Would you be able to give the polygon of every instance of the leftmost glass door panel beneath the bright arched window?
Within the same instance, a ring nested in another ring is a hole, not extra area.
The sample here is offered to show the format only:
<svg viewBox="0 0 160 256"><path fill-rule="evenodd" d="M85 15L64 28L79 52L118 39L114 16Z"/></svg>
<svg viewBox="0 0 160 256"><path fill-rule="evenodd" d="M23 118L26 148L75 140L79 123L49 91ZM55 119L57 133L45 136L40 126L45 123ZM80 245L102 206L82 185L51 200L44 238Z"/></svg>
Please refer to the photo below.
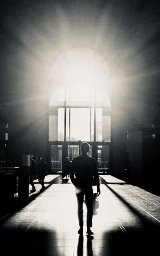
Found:
<svg viewBox="0 0 160 256"><path fill-rule="evenodd" d="M50 152L50 172L62 172L62 145L51 145Z"/></svg>

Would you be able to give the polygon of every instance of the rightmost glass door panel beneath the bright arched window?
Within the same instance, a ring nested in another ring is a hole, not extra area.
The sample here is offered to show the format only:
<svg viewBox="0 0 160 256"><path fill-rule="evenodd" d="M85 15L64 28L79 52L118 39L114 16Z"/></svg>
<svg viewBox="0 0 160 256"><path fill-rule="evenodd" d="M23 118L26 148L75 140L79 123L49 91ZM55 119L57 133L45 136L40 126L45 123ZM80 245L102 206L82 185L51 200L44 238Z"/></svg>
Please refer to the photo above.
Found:
<svg viewBox="0 0 160 256"><path fill-rule="evenodd" d="M98 146L98 171L108 173L109 146Z"/></svg>

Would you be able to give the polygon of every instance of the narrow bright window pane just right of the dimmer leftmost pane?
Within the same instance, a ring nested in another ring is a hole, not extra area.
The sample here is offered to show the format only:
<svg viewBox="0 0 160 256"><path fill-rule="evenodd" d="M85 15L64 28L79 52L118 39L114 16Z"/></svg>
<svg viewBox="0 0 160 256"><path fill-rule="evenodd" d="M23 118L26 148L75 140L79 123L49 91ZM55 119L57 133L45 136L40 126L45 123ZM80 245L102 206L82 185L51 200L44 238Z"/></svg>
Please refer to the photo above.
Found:
<svg viewBox="0 0 160 256"><path fill-rule="evenodd" d="M58 141L64 141L64 108L58 108Z"/></svg>

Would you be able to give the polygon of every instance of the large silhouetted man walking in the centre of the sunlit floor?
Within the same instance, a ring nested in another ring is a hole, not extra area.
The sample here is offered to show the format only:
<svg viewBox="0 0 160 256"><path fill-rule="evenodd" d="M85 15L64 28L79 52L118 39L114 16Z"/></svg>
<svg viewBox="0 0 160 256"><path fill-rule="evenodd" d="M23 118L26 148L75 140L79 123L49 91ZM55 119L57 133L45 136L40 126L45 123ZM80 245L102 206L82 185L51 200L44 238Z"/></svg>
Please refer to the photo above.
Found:
<svg viewBox="0 0 160 256"><path fill-rule="evenodd" d="M81 154L73 158L70 166L70 179L76 189L76 197L78 203L78 220L80 229L78 234L83 234L83 203L84 196L87 207L87 234L92 235L90 230L92 227L93 217L93 177L97 186L97 194L100 195L100 181L98 169L94 158L88 156L90 144L82 142L80 146Z"/></svg>

